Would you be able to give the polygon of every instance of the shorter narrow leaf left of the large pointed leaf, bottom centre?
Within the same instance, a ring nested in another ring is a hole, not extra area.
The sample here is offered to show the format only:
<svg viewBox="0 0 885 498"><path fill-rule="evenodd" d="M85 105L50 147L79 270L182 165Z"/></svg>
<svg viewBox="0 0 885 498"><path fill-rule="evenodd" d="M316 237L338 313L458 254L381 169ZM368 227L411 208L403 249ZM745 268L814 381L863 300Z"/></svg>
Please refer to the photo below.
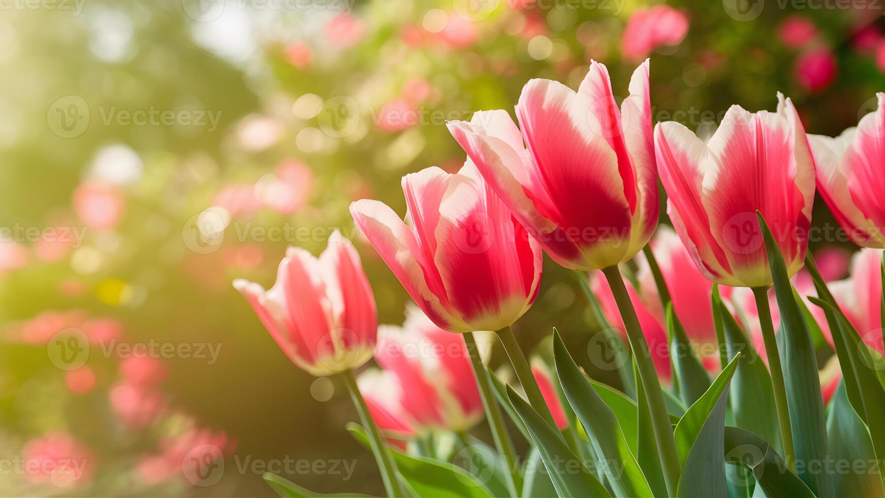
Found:
<svg viewBox="0 0 885 498"><path fill-rule="evenodd" d="M507 397L526 424L535 448L541 452L558 496L611 496L559 434L510 386L507 387Z"/></svg>

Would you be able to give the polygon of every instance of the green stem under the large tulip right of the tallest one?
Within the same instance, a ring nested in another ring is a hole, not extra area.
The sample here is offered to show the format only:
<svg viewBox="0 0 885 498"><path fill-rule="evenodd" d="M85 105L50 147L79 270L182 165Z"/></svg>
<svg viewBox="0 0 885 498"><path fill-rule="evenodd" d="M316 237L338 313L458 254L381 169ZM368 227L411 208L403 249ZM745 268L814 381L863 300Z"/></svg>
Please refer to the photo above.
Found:
<svg viewBox="0 0 885 498"><path fill-rule="evenodd" d="M787 387L783 382L781 355L778 353L777 340L774 338L772 310L768 304L768 289L752 287L756 298L756 309L759 315L759 326L762 328L762 339L766 345L768 370L772 374L774 391L774 409L777 410L778 425L781 425L781 443L783 444L783 460L790 470L796 471L796 452L793 449L793 430L789 425L789 406L787 405Z"/></svg>

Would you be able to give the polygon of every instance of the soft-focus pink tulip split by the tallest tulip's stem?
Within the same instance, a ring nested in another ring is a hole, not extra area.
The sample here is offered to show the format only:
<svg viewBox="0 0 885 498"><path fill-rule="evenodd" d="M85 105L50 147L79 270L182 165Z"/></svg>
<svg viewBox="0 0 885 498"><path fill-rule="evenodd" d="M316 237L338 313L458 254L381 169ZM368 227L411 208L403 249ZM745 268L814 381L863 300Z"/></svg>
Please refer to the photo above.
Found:
<svg viewBox="0 0 885 498"><path fill-rule="evenodd" d="M655 364L655 370L658 371L658 377L663 381L669 382L670 343L667 340L664 318L662 316L655 316L655 313L650 310L649 303L643 301L643 298L635 291L635 288L629 282L624 283L627 286L627 293L630 295L630 302L633 303L633 309L636 311L636 317L639 318L639 325L645 334L645 341L649 344L651 360ZM590 288L599 300L604 318L626 341L627 330L624 328L624 320L620 316L618 303L615 302L614 295L612 295L612 287L609 286L602 272L592 273ZM651 305L654 306L653 303ZM659 303L658 310L660 310Z"/></svg>

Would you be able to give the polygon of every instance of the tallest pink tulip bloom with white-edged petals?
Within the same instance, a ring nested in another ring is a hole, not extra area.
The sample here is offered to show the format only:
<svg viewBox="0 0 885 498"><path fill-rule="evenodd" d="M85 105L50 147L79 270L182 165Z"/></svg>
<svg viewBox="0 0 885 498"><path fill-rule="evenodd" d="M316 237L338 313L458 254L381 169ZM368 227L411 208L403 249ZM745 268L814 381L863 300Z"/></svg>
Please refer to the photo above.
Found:
<svg viewBox="0 0 885 498"><path fill-rule="evenodd" d="M608 70L594 62L577 93L530 80L516 108L521 132L505 111L449 123L513 216L567 268L627 261L658 226L648 61L629 88L619 111Z"/></svg>

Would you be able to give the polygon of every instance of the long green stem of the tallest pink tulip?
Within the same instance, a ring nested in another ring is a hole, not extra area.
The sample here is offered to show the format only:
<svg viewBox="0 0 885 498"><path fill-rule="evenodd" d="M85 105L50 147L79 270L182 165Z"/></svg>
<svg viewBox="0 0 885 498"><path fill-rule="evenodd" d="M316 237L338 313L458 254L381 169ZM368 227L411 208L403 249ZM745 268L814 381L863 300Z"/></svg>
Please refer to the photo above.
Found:
<svg viewBox="0 0 885 498"><path fill-rule="evenodd" d="M627 340L630 342L630 348L633 349L633 356L639 371L639 381L642 382L645 399L651 413L651 425L655 433L655 441L658 443L658 456L661 460L661 470L664 471L667 492L671 496L675 496L681 473L679 453L676 451L673 425L670 424L670 415L666 410L658 372L655 371L655 365L651 362L649 344L645 341L643 329L639 325L639 318L636 317L636 310L630 301L630 295L627 294L627 287L624 286L620 269L617 265L609 266L603 269L603 273L605 279L608 280L609 287L612 287L612 295L614 295L615 302L618 303L620 317L627 330Z"/></svg>

